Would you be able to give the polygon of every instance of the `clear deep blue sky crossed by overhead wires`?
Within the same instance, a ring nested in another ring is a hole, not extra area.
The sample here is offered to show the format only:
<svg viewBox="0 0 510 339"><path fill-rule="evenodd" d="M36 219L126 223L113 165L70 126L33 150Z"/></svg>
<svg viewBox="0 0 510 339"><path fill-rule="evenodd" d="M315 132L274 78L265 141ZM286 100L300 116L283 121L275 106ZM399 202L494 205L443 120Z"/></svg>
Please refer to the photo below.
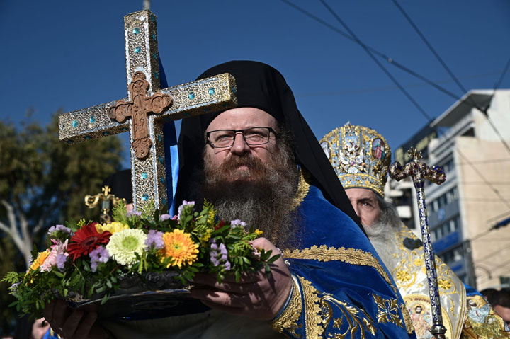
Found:
<svg viewBox="0 0 510 339"><path fill-rule="evenodd" d="M291 1L346 31L320 1ZM509 1L398 1L467 90L494 88L510 58ZM327 3L365 45L464 94L392 0ZM142 0L1 1L1 119L18 125L32 110L30 119L45 124L59 108L124 98L123 16L140 9ZM253 59L285 76L317 138L351 121L396 149L427 122L362 47L283 1L152 0L151 10L170 85L220 62ZM379 60L426 115L455 102ZM510 88L510 74L500 88Z"/></svg>

